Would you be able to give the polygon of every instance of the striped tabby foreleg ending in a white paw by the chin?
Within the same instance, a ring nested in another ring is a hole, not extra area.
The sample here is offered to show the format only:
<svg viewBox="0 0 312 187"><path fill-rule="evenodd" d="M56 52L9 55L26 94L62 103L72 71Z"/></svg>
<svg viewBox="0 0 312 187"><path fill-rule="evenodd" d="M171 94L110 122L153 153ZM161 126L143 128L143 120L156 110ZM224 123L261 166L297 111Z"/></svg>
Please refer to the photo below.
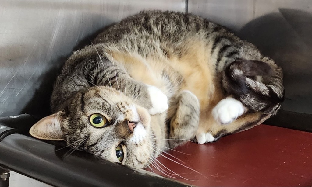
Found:
<svg viewBox="0 0 312 187"><path fill-rule="evenodd" d="M163 113L168 109L168 98L157 87L134 80L118 62L112 63L110 60L104 59L102 63L102 65L97 65L95 68L86 68L85 78L88 82L96 86L115 88L129 98L134 99L135 102L146 108L151 115ZM90 70L93 72L90 72Z"/></svg>

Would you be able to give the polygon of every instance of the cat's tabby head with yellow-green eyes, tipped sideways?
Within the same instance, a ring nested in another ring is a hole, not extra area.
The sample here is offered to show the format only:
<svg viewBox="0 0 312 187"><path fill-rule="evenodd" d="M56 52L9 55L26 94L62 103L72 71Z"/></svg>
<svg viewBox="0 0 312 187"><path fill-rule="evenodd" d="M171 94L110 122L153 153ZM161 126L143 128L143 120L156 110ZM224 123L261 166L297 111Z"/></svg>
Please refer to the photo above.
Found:
<svg viewBox="0 0 312 187"><path fill-rule="evenodd" d="M39 139L65 140L72 148L108 161L143 168L149 165L154 131L148 111L106 86L77 93L67 107L30 129Z"/></svg>

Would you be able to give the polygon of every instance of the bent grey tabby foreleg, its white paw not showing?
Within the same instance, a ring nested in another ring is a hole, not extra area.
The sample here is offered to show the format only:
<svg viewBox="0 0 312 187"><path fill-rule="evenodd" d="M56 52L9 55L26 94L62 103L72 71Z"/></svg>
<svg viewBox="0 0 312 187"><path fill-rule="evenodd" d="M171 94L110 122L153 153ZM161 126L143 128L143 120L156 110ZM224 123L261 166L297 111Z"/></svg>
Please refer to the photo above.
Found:
<svg viewBox="0 0 312 187"><path fill-rule="evenodd" d="M199 123L199 102L188 90L181 91L176 97L176 114L170 122L169 146L171 148L193 138Z"/></svg>

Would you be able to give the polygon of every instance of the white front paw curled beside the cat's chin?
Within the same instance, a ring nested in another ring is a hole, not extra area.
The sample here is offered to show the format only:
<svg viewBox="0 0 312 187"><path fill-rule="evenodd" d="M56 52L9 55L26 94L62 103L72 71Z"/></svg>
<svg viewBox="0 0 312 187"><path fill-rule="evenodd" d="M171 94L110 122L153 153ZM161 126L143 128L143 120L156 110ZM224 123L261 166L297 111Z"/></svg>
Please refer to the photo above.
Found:
<svg viewBox="0 0 312 187"><path fill-rule="evenodd" d="M152 108L149 109L150 115L163 113L168 109L168 98L161 90L155 86L148 86L149 96L152 102Z"/></svg>

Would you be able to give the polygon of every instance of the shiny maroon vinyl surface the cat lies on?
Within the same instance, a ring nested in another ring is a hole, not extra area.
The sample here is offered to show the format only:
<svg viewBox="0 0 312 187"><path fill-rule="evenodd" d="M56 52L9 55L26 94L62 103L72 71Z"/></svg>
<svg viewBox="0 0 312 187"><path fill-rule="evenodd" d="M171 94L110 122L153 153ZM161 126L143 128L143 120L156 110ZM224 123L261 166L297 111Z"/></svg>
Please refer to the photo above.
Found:
<svg viewBox="0 0 312 187"><path fill-rule="evenodd" d="M156 163L168 175L187 178L176 180L197 186L312 186L311 144L312 133L259 125L214 143L190 142L179 152L168 152L176 158L163 153L197 172L163 156L158 158L163 165Z"/></svg>

